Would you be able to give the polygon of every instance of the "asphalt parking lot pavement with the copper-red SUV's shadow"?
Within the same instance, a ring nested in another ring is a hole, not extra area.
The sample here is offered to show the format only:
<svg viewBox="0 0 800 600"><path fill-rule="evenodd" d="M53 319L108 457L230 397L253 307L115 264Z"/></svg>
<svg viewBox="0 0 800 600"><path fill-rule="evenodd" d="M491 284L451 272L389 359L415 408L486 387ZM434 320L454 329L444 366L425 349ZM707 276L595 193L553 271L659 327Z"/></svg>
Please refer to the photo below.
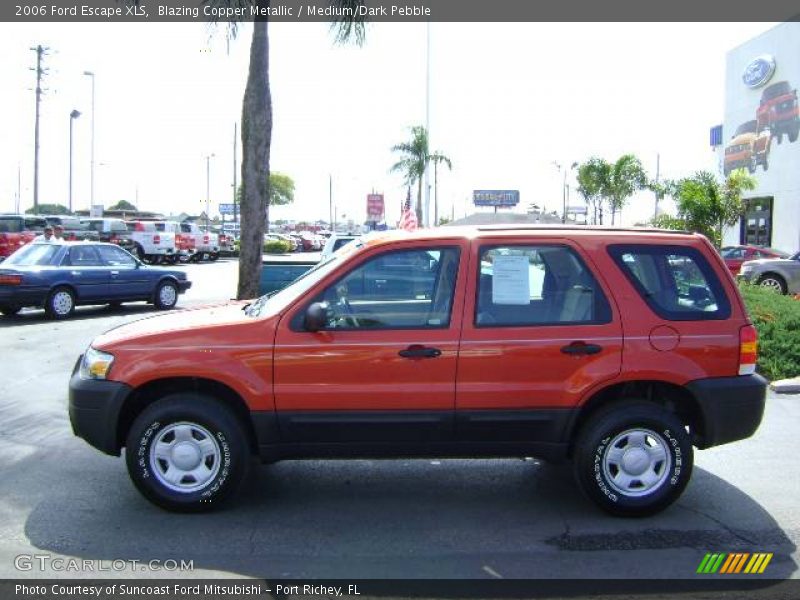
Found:
<svg viewBox="0 0 800 600"><path fill-rule="evenodd" d="M181 268L193 287L179 308L235 293L234 260ZM691 580L707 552L772 552L771 578L798 577L800 396L771 395L753 438L698 452L686 493L652 518L609 517L568 467L532 459L287 461L254 468L224 511L159 510L121 458L73 437L66 410L92 338L154 313L0 318L0 577ZM50 558L20 563L33 555ZM54 558L124 565L65 570ZM192 570L143 565L181 559Z"/></svg>

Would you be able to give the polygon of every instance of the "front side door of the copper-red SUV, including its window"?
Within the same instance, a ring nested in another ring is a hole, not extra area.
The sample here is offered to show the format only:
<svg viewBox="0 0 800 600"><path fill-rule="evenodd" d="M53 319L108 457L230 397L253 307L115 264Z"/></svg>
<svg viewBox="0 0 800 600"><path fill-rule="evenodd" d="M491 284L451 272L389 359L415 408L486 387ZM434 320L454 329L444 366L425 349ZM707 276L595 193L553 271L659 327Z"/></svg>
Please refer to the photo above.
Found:
<svg viewBox="0 0 800 600"><path fill-rule="evenodd" d="M274 351L284 441L452 439L465 244L364 251L284 315ZM304 316L314 302L325 303L327 324L312 333Z"/></svg>

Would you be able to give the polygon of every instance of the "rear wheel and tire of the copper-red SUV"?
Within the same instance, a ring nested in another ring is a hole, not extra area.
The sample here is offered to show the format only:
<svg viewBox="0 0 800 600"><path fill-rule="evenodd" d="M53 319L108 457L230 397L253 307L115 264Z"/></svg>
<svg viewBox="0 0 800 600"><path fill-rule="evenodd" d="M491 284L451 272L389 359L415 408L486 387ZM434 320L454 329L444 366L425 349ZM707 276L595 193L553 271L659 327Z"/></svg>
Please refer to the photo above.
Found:
<svg viewBox="0 0 800 600"><path fill-rule="evenodd" d="M581 429L575 477L603 510L644 517L664 510L683 493L692 475L692 452L689 434L673 413L649 402L621 402L598 412Z"/></svg>

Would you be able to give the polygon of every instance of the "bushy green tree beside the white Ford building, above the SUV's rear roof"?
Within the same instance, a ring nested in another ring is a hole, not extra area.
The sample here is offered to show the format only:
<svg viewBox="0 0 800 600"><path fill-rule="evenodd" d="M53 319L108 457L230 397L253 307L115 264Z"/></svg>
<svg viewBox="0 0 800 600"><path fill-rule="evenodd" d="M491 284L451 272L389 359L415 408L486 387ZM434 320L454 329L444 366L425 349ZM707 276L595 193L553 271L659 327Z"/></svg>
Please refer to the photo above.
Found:
<svg viewBox="0 0 800 600"><path fill-rule="evenodd" d="M724 228L735 225L744 214L742 193L755 187L755 178L744 169L732 171L724 182L713 173L699 171L674 184L677 217L660 215L653 222L702 233L719 248Z"/></svg>

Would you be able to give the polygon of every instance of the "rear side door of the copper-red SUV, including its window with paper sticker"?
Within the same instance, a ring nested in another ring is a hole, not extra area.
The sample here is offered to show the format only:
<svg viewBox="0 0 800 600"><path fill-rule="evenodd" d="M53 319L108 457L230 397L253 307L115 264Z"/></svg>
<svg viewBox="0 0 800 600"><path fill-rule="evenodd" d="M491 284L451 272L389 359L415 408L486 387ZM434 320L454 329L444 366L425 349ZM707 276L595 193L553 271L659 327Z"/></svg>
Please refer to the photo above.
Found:
<svg viewBox="0 0 800 600"><path fill-rule="evenodd" d="M573 242L473 242L456 384L461 441L562 441L581 398L616 377L622 326Z"/></svg>

